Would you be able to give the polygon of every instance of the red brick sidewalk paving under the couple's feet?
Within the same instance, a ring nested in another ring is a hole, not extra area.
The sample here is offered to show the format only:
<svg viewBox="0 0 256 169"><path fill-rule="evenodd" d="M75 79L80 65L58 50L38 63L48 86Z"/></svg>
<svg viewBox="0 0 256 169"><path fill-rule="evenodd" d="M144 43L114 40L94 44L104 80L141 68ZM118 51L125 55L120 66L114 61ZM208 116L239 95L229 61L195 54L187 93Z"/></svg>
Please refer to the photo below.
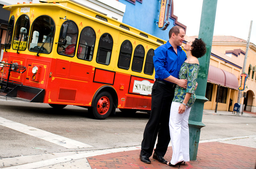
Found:
<svg viewBox="0 0 256 169"><path fill-rule="evenodd" d="M170 168L150 157L151 164L140 161L140 150L123 151L87 158L92 169L163 169ZM172 147L165 158L169 162ZM171 168L180 169L256 169L256 148L220 142L200 143L197 160Z"/></svg>

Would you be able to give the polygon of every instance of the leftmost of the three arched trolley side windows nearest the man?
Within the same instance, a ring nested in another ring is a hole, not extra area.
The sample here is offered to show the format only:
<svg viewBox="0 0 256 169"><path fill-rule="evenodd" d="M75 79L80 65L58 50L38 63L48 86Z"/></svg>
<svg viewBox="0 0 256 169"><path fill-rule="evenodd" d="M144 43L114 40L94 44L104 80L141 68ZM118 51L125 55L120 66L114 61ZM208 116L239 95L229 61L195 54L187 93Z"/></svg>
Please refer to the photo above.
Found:
<svg viewBox="0 0 256 169"><path fill-rule="evenodd" d="M132 43L129 40L125 40L120 48L117 67L128 70L130 67L132 58Z"/></svg>

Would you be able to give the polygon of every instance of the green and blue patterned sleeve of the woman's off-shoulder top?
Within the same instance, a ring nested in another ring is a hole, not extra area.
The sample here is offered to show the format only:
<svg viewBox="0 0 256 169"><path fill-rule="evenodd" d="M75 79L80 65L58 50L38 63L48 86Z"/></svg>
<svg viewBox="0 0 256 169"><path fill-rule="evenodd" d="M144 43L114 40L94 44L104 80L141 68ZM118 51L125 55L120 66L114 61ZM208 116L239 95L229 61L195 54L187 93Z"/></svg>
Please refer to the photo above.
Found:
<svg viewBox="0 0 256 169"><path fill-rule="evenodd" d="M186 93L195 93L196 87L196 79L198 74L199 65L191 64L188 66L187 77L188 77L188 85L186 89Z"/></svg>

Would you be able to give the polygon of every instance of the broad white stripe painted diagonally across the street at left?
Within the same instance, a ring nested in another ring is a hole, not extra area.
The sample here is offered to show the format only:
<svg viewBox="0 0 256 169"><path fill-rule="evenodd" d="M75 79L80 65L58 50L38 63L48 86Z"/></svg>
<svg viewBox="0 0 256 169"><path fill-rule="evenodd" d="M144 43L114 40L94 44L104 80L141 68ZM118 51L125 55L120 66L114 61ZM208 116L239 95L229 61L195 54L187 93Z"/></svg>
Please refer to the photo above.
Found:
<svg viewBox="0 0 256 169"><path fill-rule="evenodd" d="M30 136L34 136L37 138L41 138L43 140L49 141L54 144L61 145L66 148L84 148L84 147L93 147L88 144L81 143L76 140L72 140L67 137L62 137L57 134L50 133L48 131L40 130L35 127L30 127L25 124L13 122L11 120L7 120L5 118L0 117L0 125L4 127L8 127L10 129L20 131L22 133L28 134Z"/></svg>

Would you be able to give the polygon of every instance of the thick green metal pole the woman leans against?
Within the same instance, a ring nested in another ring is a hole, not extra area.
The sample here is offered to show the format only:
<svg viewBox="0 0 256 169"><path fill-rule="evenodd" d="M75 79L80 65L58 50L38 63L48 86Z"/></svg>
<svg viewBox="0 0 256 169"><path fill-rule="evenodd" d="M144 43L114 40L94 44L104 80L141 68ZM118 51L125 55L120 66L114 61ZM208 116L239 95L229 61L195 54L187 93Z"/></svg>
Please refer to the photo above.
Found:
<svg viewBox="0 0 256 169"><path fill-rule="evenodd" d="M205 126L204 123L202 123L202 117L204 102L208 101L205 97L205 90L212 49L216 8L217 0L203 0L199 38L202 38L206 43L206 53L202 58L199 58L200 70L197 77L198 87L196 89L196 101L191 108L188 119L190 160L196 160L200 131L201 128Z"/></svg>

